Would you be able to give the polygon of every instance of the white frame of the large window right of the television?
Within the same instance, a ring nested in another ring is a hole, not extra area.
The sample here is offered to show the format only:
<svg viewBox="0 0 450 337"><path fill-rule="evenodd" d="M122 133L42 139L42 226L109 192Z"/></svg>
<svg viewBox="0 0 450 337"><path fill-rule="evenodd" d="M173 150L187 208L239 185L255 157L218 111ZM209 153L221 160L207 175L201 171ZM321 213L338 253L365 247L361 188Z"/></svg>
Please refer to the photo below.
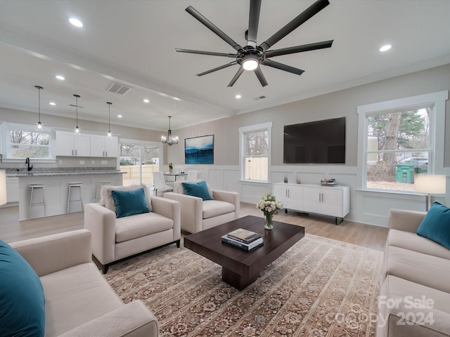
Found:
<svg viewBox="0 0 450 337"><path fill-rule="evenodd" d="M449 91L425 93L397 100L372 103L357 107L358 114L358 180L356 189L368 190L366 188L367 178L367 117L372 114L380 114L391 110L405 109L409 107L420 107L434 105L430 111L429 141L430 152L428 153L428 173L434 174L444 170L444 133L445 133L445 103L449 99ZM441 140L437 142L436 140ZM373 190L371 190L373 191ZM394 193L408 193L407 191L387 191Z"/></svg>

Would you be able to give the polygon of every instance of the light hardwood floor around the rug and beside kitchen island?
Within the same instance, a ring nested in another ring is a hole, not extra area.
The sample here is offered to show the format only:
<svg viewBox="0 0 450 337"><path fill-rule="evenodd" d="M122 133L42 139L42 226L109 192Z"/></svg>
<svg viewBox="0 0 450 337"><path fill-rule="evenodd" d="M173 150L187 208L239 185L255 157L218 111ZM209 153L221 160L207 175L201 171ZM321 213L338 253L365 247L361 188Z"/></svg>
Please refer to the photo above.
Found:
<svg viewBox="0 0 450 337"><path fill-rule="evenodd" d="M240 204L240 216L260 216L262 212L254 204ZM78 230L84 227L84 213L70 213L62 216L50 216L32 220L18 220L18 206L0 208L0 239L15 242L32 237ZM334 218L304 215L296 212L281 211L274 220L293 225L302 225L309 234L328 237L359 246L383 251L387 237L387 228L343 221L335 225Z"/></svg>

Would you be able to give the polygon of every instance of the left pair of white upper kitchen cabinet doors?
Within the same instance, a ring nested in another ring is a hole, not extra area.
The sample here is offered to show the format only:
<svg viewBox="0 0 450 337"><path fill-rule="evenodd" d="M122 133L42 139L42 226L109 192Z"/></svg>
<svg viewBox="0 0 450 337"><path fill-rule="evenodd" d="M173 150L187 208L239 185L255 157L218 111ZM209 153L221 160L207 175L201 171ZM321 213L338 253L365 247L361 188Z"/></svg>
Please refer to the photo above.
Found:
<svg viewBox="0 0 450 337"><path fill-rule="evenodd" d="M56 155L89 157L91 155L91 138L88 134L79 134L71 131L55 131Z"/></svg>

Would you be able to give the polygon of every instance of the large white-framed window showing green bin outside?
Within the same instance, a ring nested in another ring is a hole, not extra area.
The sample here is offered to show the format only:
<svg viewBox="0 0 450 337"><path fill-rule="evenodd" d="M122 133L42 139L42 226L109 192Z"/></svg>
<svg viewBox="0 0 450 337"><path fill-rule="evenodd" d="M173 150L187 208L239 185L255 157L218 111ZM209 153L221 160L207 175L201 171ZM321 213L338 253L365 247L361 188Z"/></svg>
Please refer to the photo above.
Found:
<svg viewBox="0 0 450 337"><path fill-rule="evenodd" d="M444 153L447 98L444 91L358 107L362 188L413 191L415 175L443 167L436 154Z"/></svg>

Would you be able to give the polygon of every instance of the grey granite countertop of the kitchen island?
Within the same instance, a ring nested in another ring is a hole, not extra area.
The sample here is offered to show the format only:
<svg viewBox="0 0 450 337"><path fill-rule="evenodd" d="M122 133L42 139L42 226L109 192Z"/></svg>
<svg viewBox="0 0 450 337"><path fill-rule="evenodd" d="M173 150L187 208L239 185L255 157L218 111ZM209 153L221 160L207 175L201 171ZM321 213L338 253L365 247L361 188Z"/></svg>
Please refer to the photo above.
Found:
<svg viewBox="0 0 450 337"><path fill-rule="evenodd" d="M32 171L18 170L18 169L7 169L7 177L51 177L51 176L86 176L95 174L116 174L124 173L115 168L108 169L77 169L77 168L67 168L67 169L33 169Z"/></svg>

